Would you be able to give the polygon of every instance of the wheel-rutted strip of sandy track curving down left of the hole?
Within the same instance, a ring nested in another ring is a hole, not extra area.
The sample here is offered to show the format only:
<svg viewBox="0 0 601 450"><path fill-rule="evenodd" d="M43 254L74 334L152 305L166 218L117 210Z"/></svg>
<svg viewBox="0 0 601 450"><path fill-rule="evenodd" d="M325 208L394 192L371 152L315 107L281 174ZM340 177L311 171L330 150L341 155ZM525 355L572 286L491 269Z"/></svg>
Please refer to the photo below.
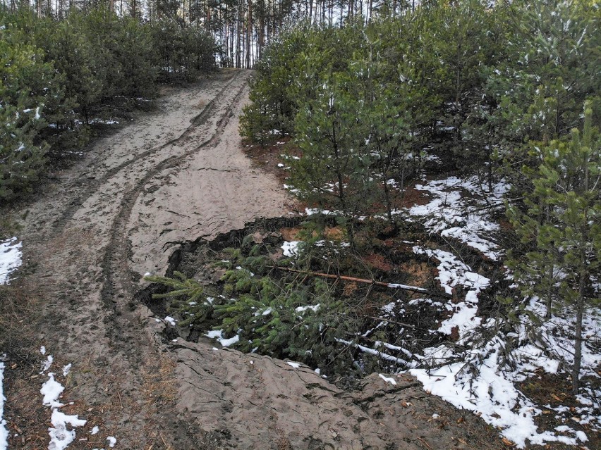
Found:
<svg viewBox="0 0 601 450"><path fill-rule="evenodd" d="M25 282L44 291L33 333L55 357L73 363L70 399L86 405L80 413L95 417L116 435L120 448L159 449L165 441L178 449L204 446L202 430L183 423L173 406L157 408L154 397L149 398L149 386L157 389L149 385L149 375L154 377L170 360L157 351L159 338L147 326L147 311L133 301L139 277L129 276L126 233L131 209L147 182L219 140L249 75L236 71L217 79L219 85L177 91L169 97L170 104L176 99L177 110L166 111L171 115L165 115L164 125L163 112L151 113L123 132L99 139L94 156L68 170L59 189L31 207L23 232L32 263ZM206 104L196 114L190 108L197 107L198 99ZM177 123L178 118L190 124ZM183 131L169 136L173 130ZM149 132L170 139L148 149L143 136ZM34 379L30 384L30 404L42 408L40 387Z"/></svg>

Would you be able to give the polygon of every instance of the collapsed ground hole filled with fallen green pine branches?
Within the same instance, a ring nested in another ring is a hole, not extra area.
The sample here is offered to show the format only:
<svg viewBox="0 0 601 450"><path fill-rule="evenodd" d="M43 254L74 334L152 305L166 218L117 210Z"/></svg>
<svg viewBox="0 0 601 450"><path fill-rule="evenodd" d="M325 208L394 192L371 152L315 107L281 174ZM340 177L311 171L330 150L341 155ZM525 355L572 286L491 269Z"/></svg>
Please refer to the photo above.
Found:
<svg viewBox="0 0 601 450"><path fill-rule="evenodd" d="M137 299L157 318L177 320L167 323L165 342L219 337L244 352L305 363L344 387L370 373L410 368L423 349L456 340L456 333L437 329L463 292L444 294L437 261L413 251L416 244L435 249L444 243L413 222L391 227L368 220L357 230L351 250L331 217L255 220L211 241L183 243L166 275L193 284L171 286L180 295L158 299L153 295L170 289L154 282ZM285 242L307 244L292 258ZM489 267L465 252L476 266ZM481 297L482 310L493 311L494 292Z"/></svg>

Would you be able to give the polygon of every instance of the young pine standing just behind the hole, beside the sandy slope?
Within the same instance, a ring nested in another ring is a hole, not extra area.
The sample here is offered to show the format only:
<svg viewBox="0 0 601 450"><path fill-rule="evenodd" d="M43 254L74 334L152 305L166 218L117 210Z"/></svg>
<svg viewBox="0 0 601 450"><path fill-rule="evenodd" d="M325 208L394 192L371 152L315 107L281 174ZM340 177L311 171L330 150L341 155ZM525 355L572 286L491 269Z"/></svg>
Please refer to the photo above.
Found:
<svg viewBox="0 0 601 450"><path fill-rule="evenodd" d="M356 80L334 74L317 87L316 99L296 115L296 144L303 152L291 161L291 183L310 203L340 211L348 239L354 245L353 217L364 211L370 192L370 156L361 146Z"/></svg>

